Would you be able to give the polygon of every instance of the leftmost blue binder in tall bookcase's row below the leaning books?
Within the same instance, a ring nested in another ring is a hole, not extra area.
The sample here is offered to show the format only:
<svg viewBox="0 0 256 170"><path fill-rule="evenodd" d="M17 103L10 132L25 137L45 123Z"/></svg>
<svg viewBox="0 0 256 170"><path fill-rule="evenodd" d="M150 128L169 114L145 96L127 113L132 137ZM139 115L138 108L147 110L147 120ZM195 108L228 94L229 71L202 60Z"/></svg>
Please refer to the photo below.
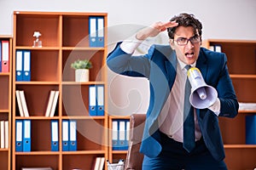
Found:
<svg viewBox="0 0 256 170"><path fill-rule="evenodd" d="M16 120L15 122L16 127L16 141L15 141L15 150L16 151L23 151L23 121Z"/></svg>

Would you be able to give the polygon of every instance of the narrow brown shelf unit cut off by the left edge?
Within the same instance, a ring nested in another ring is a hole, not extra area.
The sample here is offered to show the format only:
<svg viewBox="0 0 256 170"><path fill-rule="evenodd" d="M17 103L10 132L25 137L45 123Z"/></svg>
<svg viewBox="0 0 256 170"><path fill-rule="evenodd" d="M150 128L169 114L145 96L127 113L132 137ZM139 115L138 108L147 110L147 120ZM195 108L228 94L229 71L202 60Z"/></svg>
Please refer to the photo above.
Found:
<svg viewBox="0 0 256 170"><path fill-rule="evenodd" d="M11 164L11 89L12 89L12 37L8 35L0 35L0 41L9 42L9 72L0 72L0 122L9 122L8 147L0 148L0 169L10 169ZM3 46L2 46L3 48ZM0 53L2 53L0 51ZM1 59L2 61L2 59ZM2 65L2 62L0 63ZM5 136L6 137L6 136ZM4 138L5 138L4 137ZM1 138L1 137L0 137Z"/></svg>

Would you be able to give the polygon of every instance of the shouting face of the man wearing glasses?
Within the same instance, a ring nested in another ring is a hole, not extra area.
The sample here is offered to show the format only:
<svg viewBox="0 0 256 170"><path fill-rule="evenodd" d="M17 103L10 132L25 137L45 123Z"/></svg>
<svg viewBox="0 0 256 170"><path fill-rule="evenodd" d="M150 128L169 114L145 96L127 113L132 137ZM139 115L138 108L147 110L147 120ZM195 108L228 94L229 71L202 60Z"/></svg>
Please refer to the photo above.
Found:
<svg viewBox="0 0 256 170"><path fill-rule="evenodd" d="M189 38L191 38L190 40L192 42L187 41ZM195 40L198 40L198 38L200 38L200 41L196 42ZM188 43L181 45L178 44L179 42ZM171 40L170 45L176 51L178 59L182 60L183 63L187 65L191 65L195 63L196 59L198 59L201 37L197 37L197 35L195 35L192 26L178 26L174 34L174 40Z"/></svg>

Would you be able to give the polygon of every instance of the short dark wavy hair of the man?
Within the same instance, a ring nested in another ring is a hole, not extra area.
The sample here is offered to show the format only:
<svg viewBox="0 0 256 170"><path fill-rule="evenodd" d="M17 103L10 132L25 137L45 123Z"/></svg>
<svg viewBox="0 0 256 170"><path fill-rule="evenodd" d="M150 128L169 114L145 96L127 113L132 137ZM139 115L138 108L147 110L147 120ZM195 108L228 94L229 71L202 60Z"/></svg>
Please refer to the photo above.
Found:
<svg viewBox="0 0 256 170"><path fill-rule="evenodd" d="M177 16L172 17L172 19L170 21L176 20L176 22L178 23L178 26L192 26L194 28L194 32L195 34L199 34L198 36L201 36L201 29L202 29L202 25L201 22L197 19L195 19L195 15L194 14L178 14ZM167 28L167 32L168 32L168 36L170 39L174 38L174 33L177 29L177 27L170 27Z"/></svg>

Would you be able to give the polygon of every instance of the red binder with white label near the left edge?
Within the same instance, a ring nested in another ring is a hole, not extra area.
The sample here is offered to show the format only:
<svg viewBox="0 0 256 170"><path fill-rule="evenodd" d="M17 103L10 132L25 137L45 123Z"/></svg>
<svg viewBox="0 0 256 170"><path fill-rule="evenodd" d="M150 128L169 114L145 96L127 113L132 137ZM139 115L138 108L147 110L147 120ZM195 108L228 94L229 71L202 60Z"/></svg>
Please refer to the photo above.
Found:
<svg viewBox="0 0 256 170"><path fill-rule="evenodd" d="M9 41L2 41L2 72L9 72Z"/></svg>

